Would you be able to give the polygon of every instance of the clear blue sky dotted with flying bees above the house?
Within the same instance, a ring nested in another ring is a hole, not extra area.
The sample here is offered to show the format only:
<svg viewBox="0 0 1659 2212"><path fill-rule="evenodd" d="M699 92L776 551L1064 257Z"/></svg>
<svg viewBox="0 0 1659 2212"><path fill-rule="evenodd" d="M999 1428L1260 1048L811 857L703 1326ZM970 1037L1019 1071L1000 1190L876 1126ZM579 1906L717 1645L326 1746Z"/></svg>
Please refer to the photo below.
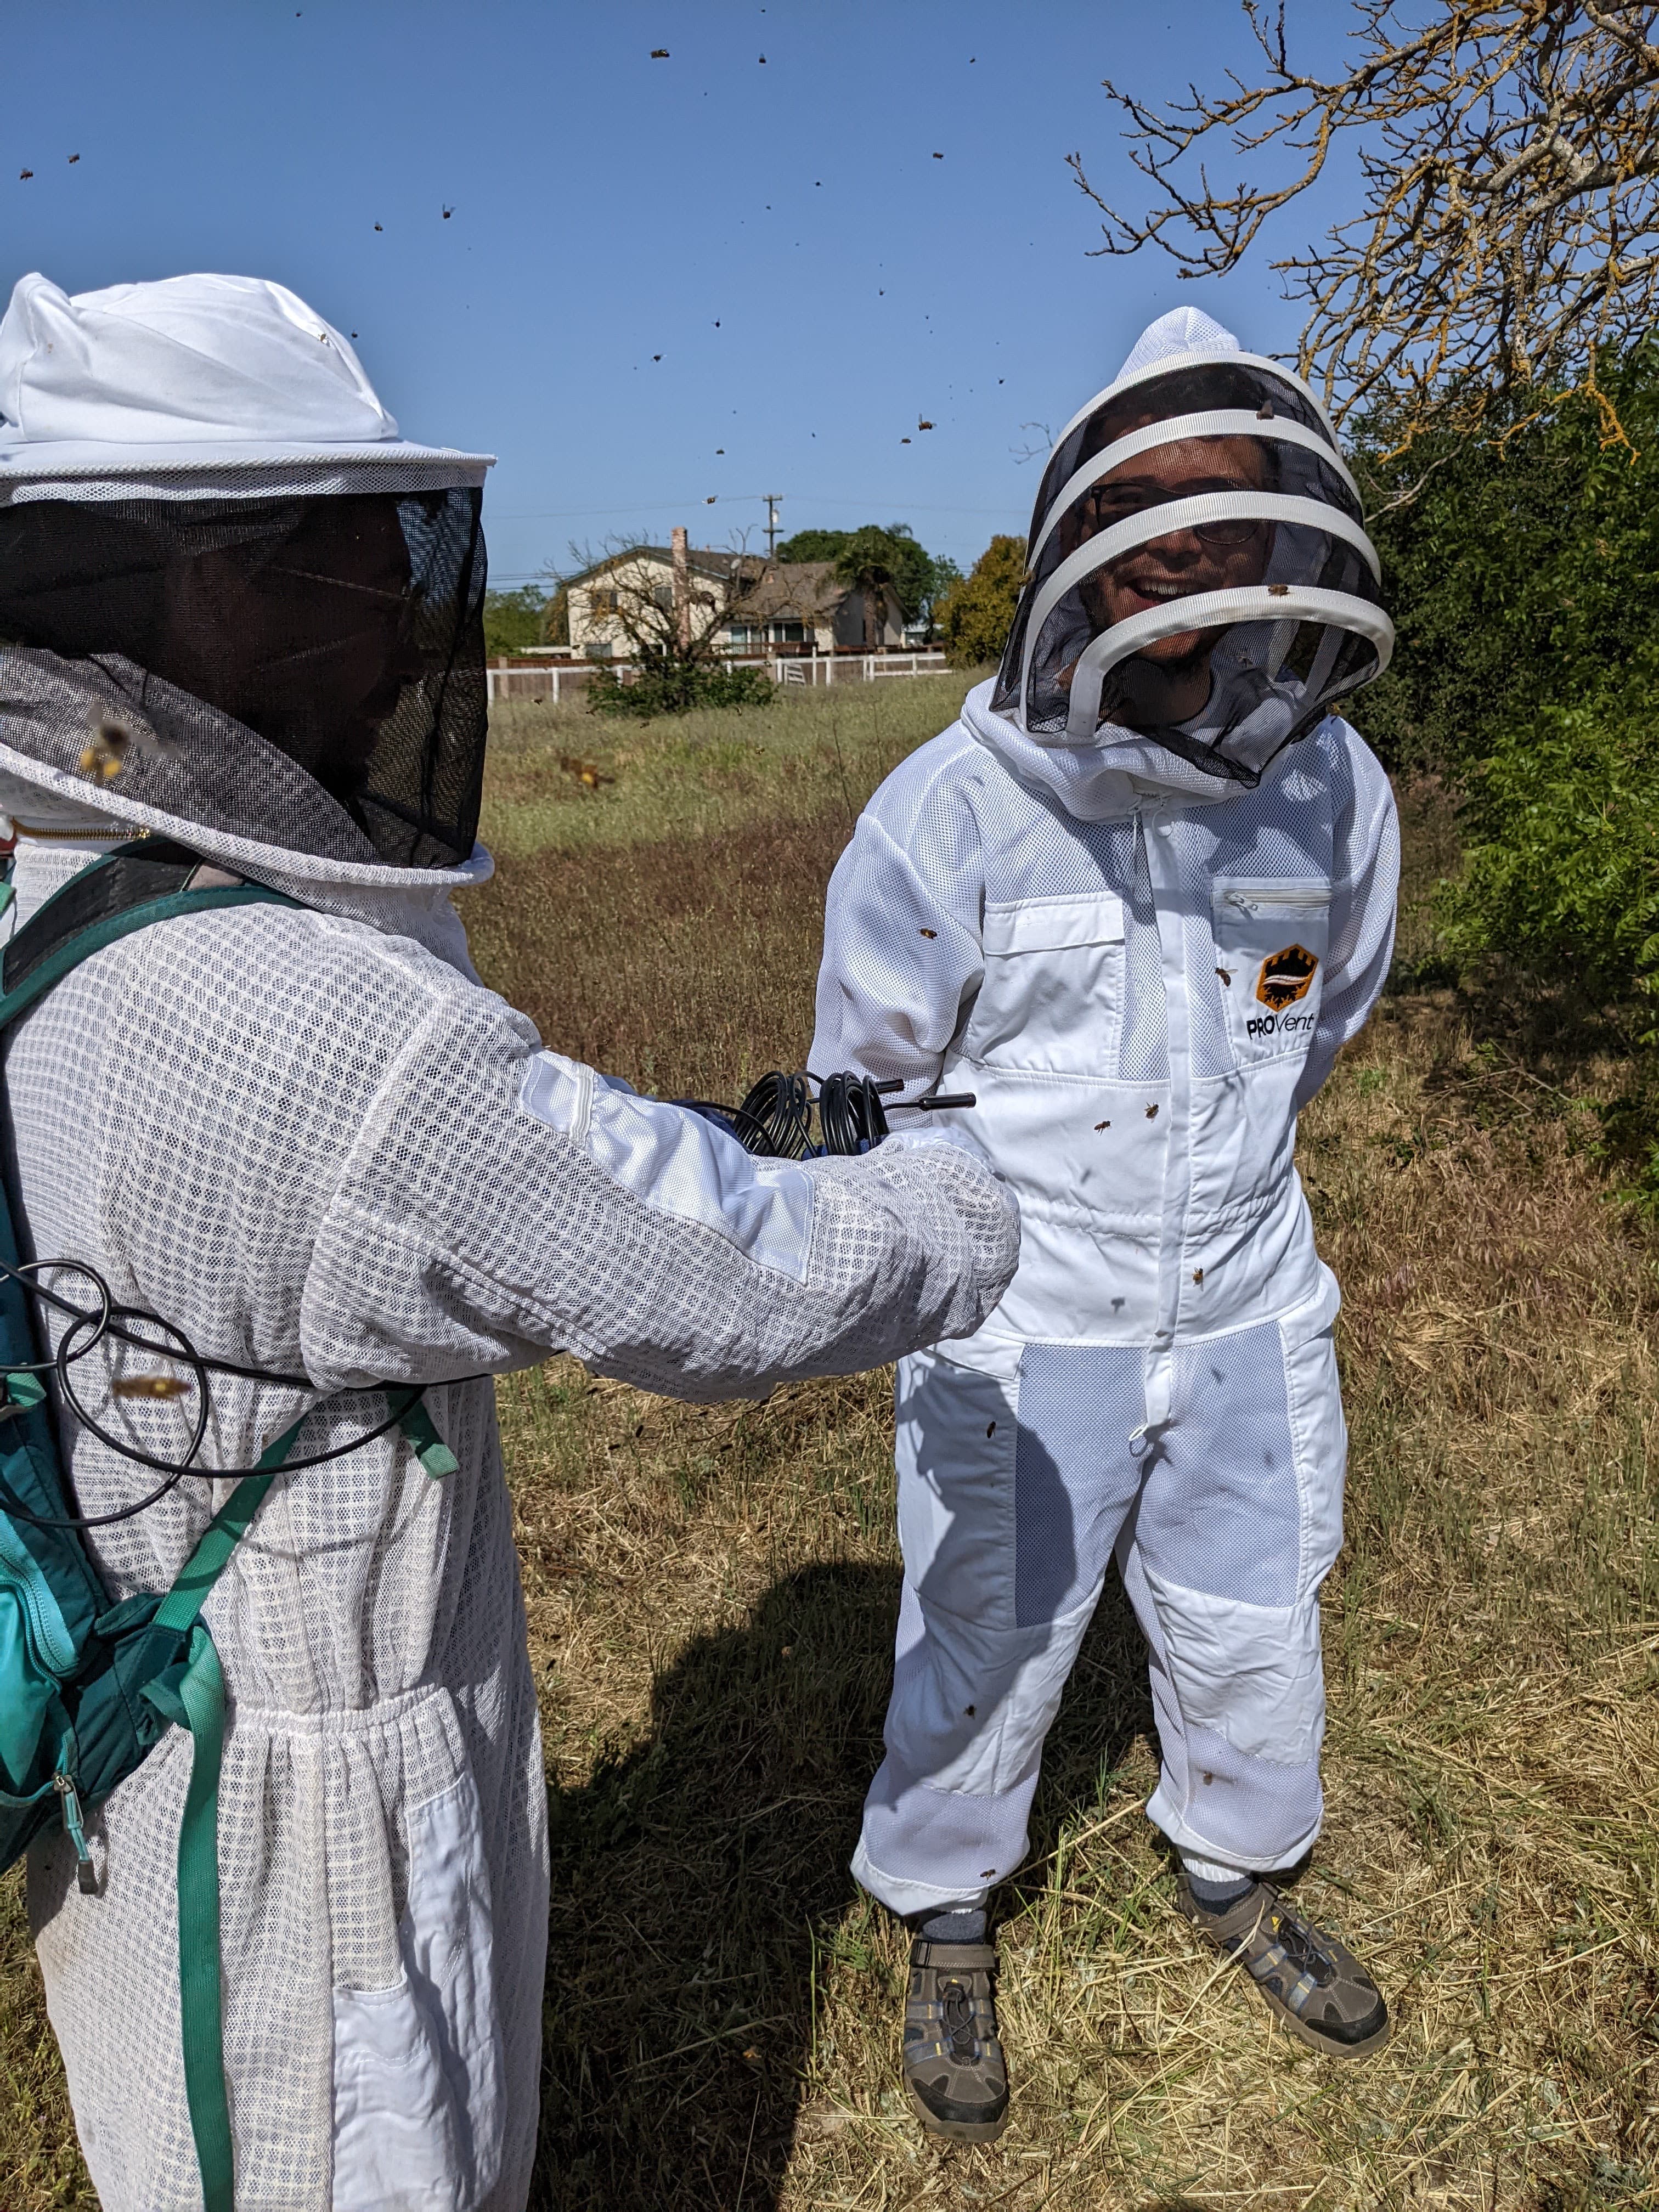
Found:
<svg viewBox="0 0 1659 2212"><path fill-rule="evenodd" d="M1301 0L1292 29L1329 60L1345 22ZM1064 166L1133 199L1099 80L1228 62L1237 0L31 0L4 274L292 285L405 431L500 456L498 582L672 522L763 544L765 491L785 529L902 520L967 566L1026 524L1031 425L1150 316L1294 345L1265 257L1225 283L1088 259Z"/></svg>

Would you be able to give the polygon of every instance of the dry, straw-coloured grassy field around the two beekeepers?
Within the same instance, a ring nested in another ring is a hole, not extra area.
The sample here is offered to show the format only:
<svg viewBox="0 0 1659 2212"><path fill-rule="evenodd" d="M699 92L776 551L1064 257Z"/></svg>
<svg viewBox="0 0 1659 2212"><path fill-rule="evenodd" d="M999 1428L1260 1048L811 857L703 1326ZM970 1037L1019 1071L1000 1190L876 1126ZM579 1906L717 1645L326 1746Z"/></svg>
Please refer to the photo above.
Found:
<svg viewBox="0 0 1659 2212"><path fill-rule="evenodd" d="M641 1084L799 1064L849 818L953 701L509 710L487 978ZM1422 787L1405 816L1396 978L1301 1148L1354 1455L1298 1893L1376 1966L1389 2051L1338 2068L1272 2033L1177 1920L1113 1588L1002 1896L1013 2126L925 2141L905 1947L845 1874L898 1604L885 1378L686 1409L555 1360L500 1389L553 1805L538 2212L1659 2199L1657 1248L1593 1155L1595 1026L1451 987L1425 902L1447 807ZM7 1900L0 2205L88 2203Z"/></svg>

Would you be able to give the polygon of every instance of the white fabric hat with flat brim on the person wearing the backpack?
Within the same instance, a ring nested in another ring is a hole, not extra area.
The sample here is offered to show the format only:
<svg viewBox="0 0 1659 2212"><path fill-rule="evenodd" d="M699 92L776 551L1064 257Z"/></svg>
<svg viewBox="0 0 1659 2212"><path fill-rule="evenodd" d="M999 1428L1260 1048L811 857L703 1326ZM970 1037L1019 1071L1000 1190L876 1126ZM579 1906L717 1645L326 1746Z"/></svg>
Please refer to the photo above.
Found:
<svg viewBox="0 0 1659 2212"><path fill-rule="evenodd" d="M400 438L341 332L261 276L22 276L0 416L0 504L445 491L493 460Z"/></svg>

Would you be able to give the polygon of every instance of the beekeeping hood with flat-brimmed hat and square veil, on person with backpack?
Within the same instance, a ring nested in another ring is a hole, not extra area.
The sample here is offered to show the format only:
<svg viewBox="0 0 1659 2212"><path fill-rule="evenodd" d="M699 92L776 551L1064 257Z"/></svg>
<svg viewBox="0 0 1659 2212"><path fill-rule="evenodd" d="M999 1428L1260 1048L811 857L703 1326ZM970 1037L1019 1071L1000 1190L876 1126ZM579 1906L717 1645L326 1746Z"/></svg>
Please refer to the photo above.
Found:
<svg viewBox="0 0 1659 2212"><path fill-rule="evenodd" d="M0 416L0 807L476 878L484 456L252 276L24 276Z"/></svg>

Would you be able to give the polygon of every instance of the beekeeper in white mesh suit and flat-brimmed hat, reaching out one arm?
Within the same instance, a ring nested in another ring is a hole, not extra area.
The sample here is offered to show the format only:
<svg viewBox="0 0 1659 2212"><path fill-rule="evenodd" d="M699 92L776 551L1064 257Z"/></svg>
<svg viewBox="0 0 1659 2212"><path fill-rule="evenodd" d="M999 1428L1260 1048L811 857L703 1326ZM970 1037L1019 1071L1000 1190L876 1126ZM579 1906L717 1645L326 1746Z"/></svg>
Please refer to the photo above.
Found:
<svg viewBox="0 0 1659 2212"><path fill-rule="evenodd" d="M403 440L352 347L281 285L179 276L0 323L0 807L18 914L113 843L177 838L296 907L148 927L13 1033L40 1256L93 1263L206 1356L204 1462L250 1467L345 1385L568 1347L684 1398L752 1396L980 1325L1018 1225L938 1141L757 1164L708 1121L544 1051L482 989L478 456ZM62 1327L62 1318L58 1321ZM301 1451L385 1398L330 1400ZM518 2212L546 1936L544 1772L491 1383L279 1478L208 1604L237 2212ZM177 1453L179 1405L117 1407ZM146 1469L69 1429L80 1511ZM226 1484L93 1535L166 1590ZM188 2212L173 1730L29 1905L104 2212Z"/></svg>

